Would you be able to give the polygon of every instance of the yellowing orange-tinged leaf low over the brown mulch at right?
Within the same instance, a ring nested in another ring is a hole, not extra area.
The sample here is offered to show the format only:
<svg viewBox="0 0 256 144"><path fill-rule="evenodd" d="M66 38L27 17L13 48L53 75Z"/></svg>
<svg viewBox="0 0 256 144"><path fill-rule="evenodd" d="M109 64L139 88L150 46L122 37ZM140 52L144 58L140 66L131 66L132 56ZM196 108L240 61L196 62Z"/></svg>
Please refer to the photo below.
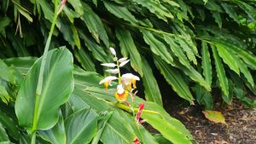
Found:
<svg viewBox="0 0 256 144"><path fill-rule="evenodd" d="M214 123L226 124L224 115L217 111L203 111L205 117Z"/></svg>

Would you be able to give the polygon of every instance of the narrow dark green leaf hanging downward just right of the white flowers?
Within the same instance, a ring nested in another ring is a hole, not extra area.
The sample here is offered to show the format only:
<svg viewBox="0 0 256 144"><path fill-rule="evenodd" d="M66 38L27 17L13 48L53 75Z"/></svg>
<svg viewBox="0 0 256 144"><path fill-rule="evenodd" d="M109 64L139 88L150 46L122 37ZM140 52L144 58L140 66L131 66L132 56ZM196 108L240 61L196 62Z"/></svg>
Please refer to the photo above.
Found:
<svg viewBox="0 0 256 144"><path fill-rule="evenodd" d="M154 73L148 65L148 61L143 59L143 85L145 89L145 98L147 101L153 101L160 106L163 106L162 96L160 94L159 86L154 78Z"/></svg>

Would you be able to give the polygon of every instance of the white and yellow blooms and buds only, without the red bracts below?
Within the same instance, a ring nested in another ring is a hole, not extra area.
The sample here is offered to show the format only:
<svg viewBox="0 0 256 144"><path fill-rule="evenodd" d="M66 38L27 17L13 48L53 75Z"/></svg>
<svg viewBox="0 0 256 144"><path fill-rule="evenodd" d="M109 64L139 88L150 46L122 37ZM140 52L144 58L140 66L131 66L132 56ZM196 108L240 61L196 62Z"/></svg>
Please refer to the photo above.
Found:
<svg viewBox="0 0 256 144"><path fill-rule="evenodd" d="M104 84L104 87L107 90L108 86L112 86L111 82L113 80L118 79L119 84L114 95L117 101L124 102L126 101L128 95L132 94L132 90L137 88L136 82L139 81L140 78L133 75L132 73L125 73L121 76L120 67L125 66L130 60L128 60L126 57L118 59L115 50L113 48L110 48L110 51L114 56L114 63L103 63L102 66L109 67L109 69L106 70L106 72L109 72L114 75L118 74L118 77L108 76L107 78L102 79L100 84Z"/></svg>

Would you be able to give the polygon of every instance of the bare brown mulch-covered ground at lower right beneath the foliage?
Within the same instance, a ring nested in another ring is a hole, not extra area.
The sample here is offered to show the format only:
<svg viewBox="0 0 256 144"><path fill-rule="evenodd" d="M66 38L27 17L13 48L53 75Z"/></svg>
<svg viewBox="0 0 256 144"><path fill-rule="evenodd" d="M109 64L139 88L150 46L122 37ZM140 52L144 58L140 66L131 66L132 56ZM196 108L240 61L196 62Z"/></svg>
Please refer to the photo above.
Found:
<svg viewBox="0 0 256 144"><path fill-rule="evenodd" d="M166 103L167 102L167 103ZM215 107L224 114L225 124L207 120L198 106L181 107L177 101L166 101L166 111L179 119L202 144L256 144L256 109L244 109L240 104L233 107Z"/></svg>

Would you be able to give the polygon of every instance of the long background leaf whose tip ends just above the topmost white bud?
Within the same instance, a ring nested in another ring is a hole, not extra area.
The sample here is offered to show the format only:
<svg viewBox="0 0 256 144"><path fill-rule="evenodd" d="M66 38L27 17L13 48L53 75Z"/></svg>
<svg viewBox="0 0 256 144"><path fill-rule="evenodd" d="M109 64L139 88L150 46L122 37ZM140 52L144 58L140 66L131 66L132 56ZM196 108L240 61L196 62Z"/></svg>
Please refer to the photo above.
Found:
<svg viewBox="0 0 256 144"><path fill-rule="evenodd" d="M97 43L100 43L101 38L103 43L105 43L105 45L109 47L108 35L102 24L102 20L97 14L94 13L94 11L90 8L88 4L83 3L83 7L84 14L81 17L81 20L84 20L84 23L88 27L92 37L96 39Z"/></svg>

